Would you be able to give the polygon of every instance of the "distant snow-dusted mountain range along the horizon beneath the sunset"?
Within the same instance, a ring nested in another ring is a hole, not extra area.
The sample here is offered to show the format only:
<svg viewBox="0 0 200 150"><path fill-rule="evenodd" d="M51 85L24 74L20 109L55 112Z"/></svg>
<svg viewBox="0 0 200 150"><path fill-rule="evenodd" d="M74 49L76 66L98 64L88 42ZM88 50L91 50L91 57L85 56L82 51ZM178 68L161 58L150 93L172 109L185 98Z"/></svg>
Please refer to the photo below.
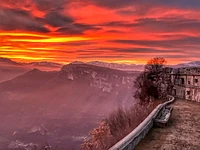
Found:
<svg viewBox="0 0 200 150"><path fill-rule="evenodd" d="M117 69L122 71L143 71L144 65L140 64L118 64L118 63L107 63L101 61L91 61L91 62L80 62L74 61L71 64L88 64L99 67L106 67L111 69ZM7 81L18 75L21 75L27 71L30 71L34 68L43 70L43 71L59 71L63 64L54 63L54 62L30 62L30 63L20 63L12 61L8 58L0 58L0 82ZM200 67L200 61L192 61L189 63L181 63L177 65L169 65L172 68L182 68L182 67Z"/></svg>

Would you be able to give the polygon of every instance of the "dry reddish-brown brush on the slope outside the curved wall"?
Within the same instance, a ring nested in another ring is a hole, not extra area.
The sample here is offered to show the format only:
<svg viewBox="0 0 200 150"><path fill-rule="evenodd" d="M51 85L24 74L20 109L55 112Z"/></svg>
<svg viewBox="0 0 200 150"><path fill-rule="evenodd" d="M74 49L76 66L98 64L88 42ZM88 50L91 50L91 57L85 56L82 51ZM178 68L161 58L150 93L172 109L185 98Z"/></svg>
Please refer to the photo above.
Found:
<svg viewBox="0 0 200 150"><path fill-rule="evenodd" d="M82 150L109 149L136 128L159 103L156 101L148 106L136 104L129 110L120 108L113 112L89 134L81 145Z"/></svg>

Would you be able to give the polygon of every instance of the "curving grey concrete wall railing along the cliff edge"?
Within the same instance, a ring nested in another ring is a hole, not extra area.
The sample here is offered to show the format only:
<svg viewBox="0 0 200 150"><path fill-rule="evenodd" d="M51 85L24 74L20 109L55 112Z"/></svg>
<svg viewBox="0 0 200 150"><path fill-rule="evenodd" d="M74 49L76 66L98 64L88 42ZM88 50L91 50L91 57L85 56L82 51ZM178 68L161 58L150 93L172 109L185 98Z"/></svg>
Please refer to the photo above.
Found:
<svg viewBox="0 0 200 150"><path fill-rule="evenodd" d="M158 105L141 124L139 124L131 133L112 146L109 150L133 150L153 127L153 119L160 112L160 110L175 100L175 98L170 95L168 98L169 101Z"/></svg>

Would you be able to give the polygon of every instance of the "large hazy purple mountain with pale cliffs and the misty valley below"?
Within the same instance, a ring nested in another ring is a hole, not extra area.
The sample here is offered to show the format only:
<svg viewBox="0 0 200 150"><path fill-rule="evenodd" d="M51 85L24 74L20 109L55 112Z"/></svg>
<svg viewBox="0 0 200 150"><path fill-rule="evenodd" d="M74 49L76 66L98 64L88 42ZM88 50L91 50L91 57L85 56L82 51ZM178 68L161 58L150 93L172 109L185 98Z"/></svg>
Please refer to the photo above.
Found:
<svg viewBox="0 0 200 150"><path fill-rule="evenodd" d="M99 121L134 104L138 72L88 64L33 69L0 83L0 150L50 144L79 149Z"/></svg>

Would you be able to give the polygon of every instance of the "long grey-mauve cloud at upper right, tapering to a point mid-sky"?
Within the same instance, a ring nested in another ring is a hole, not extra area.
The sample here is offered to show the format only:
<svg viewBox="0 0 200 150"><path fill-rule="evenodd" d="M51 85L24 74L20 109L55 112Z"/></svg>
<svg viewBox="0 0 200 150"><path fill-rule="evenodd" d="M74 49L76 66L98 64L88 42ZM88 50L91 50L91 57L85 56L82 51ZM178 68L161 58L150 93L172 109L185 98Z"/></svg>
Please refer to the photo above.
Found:
<svg viewBox="0 0 200 150"><path fill-rule="evenodd" d="M104 27L124 27L130 28L132 31L143 32L200 32L200 21L197 19L187 19L183 17L169 18L140 18L137 20L115 21L100 24Z"/></svg>

